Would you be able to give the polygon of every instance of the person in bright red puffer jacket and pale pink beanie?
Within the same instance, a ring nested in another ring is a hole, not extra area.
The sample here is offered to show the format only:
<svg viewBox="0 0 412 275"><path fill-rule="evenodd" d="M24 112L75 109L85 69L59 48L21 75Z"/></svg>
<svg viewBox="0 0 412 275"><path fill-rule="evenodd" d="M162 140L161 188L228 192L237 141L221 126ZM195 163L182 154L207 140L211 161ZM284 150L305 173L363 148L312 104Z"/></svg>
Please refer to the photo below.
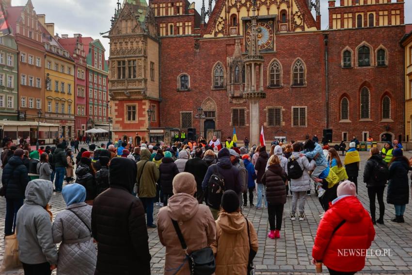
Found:
<svg viewBox="0 0 412 275"><path fill-rule="evenodd" d="M375 238L369 213L356 197L356 186L346 180L337 188L317 228L313 264L322 262L331 275L353 275L365 266L366 251Z"/></svg>

